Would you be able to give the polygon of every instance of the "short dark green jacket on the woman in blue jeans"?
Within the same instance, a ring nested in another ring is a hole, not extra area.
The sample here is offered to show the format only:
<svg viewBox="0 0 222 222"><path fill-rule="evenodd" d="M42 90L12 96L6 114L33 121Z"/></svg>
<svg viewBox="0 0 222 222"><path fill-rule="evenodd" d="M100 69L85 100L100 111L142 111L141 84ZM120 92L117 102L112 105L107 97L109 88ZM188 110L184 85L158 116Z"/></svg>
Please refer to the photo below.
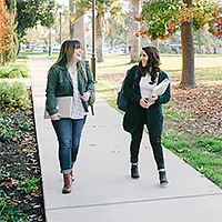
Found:
<svg viewBox="0 0 222 222"><path fill-rule="evenodd" d="M84 61L77 63L78 69L78 89L80 94L89 91L90 93L94 90L94 81L91 73L91 69L88 62ZM84 77L82 64L85 67L87 77ZM87 81L88 79L88 81ZM73 84L72 79L68 72L67 67L60 64L53 64L48 73L47 82L47 101L46 108L50 115L58 112L57 110L57 97L73 97ZM89 101L82 100L83 108L88 112Z"/></svg>

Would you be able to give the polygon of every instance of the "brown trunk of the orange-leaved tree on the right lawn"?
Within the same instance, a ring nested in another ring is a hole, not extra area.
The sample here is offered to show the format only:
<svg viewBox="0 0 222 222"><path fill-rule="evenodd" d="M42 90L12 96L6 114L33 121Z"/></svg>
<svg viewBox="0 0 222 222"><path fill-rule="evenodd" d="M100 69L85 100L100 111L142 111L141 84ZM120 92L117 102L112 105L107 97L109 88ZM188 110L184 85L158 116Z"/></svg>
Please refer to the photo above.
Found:
<svg viewBox="0 0 222 222"><path fill-rule="evenodd" d="M184 0L184 3L188 3L188 7L190 7L192 0ZM195 88L192 21L181 26L181 42L183 64L180 85L182 88Z"/></svg>

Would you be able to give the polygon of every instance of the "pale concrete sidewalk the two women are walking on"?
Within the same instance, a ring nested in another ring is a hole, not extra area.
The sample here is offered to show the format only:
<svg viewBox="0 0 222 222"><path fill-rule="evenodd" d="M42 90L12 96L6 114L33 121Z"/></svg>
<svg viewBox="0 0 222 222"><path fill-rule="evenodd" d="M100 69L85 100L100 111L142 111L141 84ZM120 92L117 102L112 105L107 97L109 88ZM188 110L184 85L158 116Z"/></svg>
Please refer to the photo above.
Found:
<svg viewBox="0 0 222 222"><path fill-rule="evenodd" d="M58 144L43 119L47 71L44 56L30 56L37 138L48 222L221 222L222 190L164 149L167 188L159 185L152 151L141 147L140 180L130 178L130 135L122 114L98 98L83 130L75 181L62 194Z"/></svg>

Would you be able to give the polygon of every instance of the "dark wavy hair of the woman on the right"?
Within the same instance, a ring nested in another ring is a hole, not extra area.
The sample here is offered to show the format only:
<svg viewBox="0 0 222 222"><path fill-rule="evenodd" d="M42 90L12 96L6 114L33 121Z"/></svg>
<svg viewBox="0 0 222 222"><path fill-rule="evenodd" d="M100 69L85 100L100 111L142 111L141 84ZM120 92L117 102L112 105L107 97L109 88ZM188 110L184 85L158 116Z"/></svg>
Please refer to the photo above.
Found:
<svg viewBox="0 0 222 222"><path fill-rule="evenodd" d="M150 84L155 82L158 72L160 72L160 54L157 48L154 47L143 47L142 50L148 54L148 64L142 67L142 62L139 62L138 73L140 77L144 77L148 72L151 75Z"/></svg>

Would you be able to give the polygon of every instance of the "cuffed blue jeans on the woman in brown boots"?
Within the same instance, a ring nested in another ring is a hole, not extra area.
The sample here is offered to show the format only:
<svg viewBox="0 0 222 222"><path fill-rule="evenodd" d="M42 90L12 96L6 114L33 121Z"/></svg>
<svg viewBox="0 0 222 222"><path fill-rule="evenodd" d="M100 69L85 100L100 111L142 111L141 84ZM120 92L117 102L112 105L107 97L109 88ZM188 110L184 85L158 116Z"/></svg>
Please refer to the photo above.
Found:
<svg viewBox="0 0 222 222"><path fill-rule="evenodd" d="M87 115L80 120L60 119L52 121L59 142L59 161L61 173L70 173L71 164L77 160L80 138L84 127Z"/></svg>

